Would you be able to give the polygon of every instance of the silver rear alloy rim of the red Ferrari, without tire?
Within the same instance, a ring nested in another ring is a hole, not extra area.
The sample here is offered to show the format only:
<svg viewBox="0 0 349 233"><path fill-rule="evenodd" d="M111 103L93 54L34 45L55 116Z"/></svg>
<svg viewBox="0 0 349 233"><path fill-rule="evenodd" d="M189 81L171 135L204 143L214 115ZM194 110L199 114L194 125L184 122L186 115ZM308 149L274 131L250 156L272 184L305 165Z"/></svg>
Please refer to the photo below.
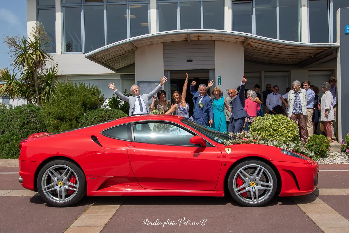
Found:
<svg viewBox="0 0 349 233"><path fill-rule="evenodd" d="M74 180L74 183L70 182L71 180ZM45 171L41 187L45 196L51 201L65 203L77 194L79 179L72 168L58 164Z"/></svg>

